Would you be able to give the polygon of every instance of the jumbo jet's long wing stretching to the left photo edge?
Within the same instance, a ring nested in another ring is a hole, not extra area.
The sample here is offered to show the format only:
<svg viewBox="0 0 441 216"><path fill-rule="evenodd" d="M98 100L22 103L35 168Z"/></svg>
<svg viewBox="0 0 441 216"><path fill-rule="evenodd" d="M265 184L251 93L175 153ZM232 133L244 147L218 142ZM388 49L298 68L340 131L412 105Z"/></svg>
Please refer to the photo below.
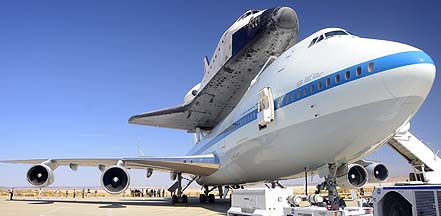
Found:
<svg viewBox="0 0 441 216"><path fill-rule="evenodd" d="M91 166L109 167L119 161L128 169L159 169L181 173L207 176L219 168L219 160L214 154L177 156L177 157L137 157L137 158L81 158L81 159L36 159L36 160L5 160L1 163L10 164L41 164L50 161L57 166Z"/></svg>

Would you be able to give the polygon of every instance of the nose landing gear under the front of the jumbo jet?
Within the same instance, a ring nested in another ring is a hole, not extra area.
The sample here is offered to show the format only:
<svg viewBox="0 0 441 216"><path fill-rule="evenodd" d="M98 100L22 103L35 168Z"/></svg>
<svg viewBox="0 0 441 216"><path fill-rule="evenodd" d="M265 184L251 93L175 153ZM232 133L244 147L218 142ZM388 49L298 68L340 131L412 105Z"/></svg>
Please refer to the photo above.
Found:
<svg viewBox="0 0 441 216"><path fill-rule="evenodd" d="M328 173L325 175L325 182L317 185L316 194L319 194L321 190L328 190L328 197L325 200L329 210L338 210L345 208L345 201L338 195L337 192L337 166L335 164L328 164Z"/></svg>

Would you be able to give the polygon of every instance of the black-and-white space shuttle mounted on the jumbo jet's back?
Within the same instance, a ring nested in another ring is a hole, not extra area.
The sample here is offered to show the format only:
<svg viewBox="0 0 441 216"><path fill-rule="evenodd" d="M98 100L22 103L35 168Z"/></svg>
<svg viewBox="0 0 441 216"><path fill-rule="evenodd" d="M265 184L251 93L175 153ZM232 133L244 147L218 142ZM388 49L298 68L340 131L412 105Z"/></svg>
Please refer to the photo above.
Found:
<svg viewBox="0 0 441 216"><path fill-rule="evenodd" d="M184 103L132 116L131 124L210 131L237 105L250 82L270 56L279 56L297 41L299 23L288 7L250 10L221 36L204 76L191 88Z"/></svg>

